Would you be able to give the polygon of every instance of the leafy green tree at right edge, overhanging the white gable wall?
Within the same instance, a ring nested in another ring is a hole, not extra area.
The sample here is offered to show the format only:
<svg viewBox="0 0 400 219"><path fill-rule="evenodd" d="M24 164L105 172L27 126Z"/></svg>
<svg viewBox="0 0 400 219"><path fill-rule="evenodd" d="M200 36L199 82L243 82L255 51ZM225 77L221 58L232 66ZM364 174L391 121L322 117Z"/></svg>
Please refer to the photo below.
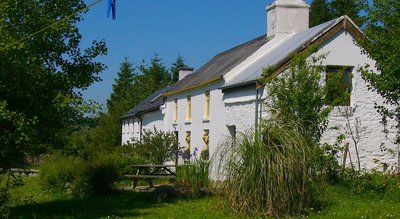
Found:
<svg viewBox="0 0 400 219"><path fill-rule="evenodd" d="M369 88L384 98L386 105L376 105L376 108L382 115L386 133L388 121L394 120L397 129L394 143L400 147L400 2L374 0L365 5L365 11L366 37L358 43L363 52L375 60L375 68L379 73L369 66L360 70ZM398 165L400 167L400 154Z"/></svg>

